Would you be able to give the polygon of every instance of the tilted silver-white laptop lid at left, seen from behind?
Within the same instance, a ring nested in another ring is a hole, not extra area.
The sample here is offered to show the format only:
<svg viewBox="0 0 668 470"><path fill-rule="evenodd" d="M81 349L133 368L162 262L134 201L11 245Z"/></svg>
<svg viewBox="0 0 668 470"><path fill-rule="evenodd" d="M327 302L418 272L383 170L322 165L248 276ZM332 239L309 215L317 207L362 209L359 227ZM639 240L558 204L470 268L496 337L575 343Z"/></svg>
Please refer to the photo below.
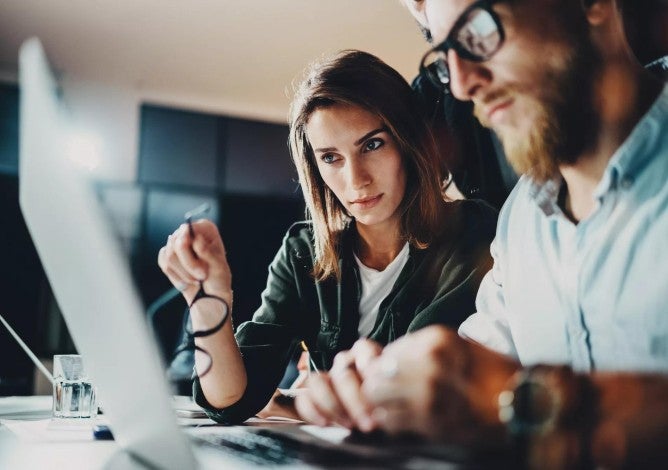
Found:
<svg viewBox="0 0 668 470"><path fill-rule="evenodd" d="M117 443L150 467L196 466L130 269L90 175L68 158L68 119L38 39L19 55L19 201Z"/></svg>

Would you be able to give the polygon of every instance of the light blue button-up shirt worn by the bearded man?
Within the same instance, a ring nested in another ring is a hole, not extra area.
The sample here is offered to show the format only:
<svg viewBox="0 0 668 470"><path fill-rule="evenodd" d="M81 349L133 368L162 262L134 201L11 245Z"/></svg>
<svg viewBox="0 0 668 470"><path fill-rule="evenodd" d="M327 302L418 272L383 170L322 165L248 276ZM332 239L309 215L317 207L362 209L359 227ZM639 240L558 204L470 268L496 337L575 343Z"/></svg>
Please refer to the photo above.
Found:
<svg viewBox="0 0 668 470"><path fill-rule="evenodd" d="M520 179L459 334L524 365L668 372L668 86L577 225L557 204L561 184Z"/></svg>

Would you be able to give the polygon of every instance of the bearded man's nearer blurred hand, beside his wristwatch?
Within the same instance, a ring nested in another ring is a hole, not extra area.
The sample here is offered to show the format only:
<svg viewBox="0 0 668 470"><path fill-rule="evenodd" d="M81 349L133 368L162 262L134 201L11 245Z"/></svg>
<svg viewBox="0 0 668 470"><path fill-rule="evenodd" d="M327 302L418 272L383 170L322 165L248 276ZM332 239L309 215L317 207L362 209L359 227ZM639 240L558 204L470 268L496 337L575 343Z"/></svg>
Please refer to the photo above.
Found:
<svg viewBox="0 0 668 470"><path fill-rule="evenodd" d="M374 428L435 441L503 441L498 395L520 365L453 330L431 326L389 344L360 369Z"/></svg>

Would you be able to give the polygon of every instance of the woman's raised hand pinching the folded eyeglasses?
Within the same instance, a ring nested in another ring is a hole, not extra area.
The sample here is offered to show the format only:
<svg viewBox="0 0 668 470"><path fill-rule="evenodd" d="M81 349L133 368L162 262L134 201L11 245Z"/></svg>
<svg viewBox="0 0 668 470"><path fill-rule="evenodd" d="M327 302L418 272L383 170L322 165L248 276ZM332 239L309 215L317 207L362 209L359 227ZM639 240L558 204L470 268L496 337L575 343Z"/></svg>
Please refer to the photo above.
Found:
<svg viewBox="0 0 668 470"><path fill-rule="evenodd" d="M225 246L218 228L209 220L181 226L168 238L158 253L158 266L172 285L183 293L190 304L204 281L207 294L222 297L232 306L232 273L227 264Z"/></svg>

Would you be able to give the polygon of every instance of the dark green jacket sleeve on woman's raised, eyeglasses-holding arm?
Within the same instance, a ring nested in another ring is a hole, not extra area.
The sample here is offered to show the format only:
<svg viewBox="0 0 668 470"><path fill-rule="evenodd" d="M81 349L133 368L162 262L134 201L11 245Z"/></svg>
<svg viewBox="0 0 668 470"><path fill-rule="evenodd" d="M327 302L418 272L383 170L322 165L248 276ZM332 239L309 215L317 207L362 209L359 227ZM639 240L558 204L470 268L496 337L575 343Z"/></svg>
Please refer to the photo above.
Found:
<svg viewBox="0 0 668 470"><path fill-rule="evenodd" d="M248 378L244 395L237 403L217 409L206 400L199 380L193 383L195 401L219 423L241 423L268 403L285 372L296 338L302 335L300 327L305 322L298 321L300 299L289 235L269 267L260 308L252 320L239 325L235 334Z"/></svg>

